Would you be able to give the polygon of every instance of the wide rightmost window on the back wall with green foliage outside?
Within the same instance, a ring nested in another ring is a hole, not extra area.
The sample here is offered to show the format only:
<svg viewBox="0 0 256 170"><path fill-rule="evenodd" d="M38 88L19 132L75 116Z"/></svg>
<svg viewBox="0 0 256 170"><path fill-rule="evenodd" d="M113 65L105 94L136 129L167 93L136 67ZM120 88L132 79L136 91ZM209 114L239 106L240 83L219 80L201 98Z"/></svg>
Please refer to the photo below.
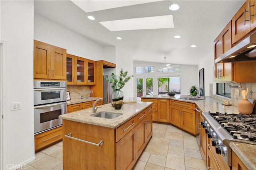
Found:
<svg viewBox="0 0 256 170"><path fill-rule="evenodd" d="M168 92L180 94L180 77L158 78L158 94L166 94Z"/></svg>

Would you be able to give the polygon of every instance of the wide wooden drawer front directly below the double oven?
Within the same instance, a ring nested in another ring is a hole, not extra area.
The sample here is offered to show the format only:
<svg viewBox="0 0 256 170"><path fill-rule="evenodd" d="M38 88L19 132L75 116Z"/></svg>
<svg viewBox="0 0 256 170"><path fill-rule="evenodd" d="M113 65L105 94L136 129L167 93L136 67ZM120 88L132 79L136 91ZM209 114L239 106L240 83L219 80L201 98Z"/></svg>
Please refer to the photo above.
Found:
<svg viewBox="0 0 256 170"><path fill-rule="evenodd" d="M35 135L35 152L62 140L62 126Z"/></svg>

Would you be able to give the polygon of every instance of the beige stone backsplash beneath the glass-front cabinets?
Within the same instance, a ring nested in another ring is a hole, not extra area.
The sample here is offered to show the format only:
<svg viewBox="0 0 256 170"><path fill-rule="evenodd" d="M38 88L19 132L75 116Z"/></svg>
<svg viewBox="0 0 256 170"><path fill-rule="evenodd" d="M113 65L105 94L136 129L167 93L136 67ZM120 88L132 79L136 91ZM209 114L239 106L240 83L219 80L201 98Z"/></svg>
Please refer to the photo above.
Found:
<svg viewBox="0 0 256 170"><path fill-rule="evenodd" d="M67 91L69 91L71 99L80 99L81 96L90 97L90 94L87 92L90 90L90 86L85 85L67 85Z"/></svg>

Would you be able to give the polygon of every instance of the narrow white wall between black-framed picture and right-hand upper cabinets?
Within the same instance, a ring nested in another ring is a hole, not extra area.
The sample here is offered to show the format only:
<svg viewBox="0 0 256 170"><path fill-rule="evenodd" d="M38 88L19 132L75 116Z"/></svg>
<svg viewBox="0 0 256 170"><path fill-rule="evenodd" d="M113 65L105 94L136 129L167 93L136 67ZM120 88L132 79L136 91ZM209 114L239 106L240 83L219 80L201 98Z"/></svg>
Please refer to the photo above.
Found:
<svg viewBox="0 0 256 170"><path fill-rule="evenodd" d="M213 49L198 64L198 70L204 68L204 96L210 96L210 86L213 83L214 52ZM216 88L215 88L216 89Z"/></svg>

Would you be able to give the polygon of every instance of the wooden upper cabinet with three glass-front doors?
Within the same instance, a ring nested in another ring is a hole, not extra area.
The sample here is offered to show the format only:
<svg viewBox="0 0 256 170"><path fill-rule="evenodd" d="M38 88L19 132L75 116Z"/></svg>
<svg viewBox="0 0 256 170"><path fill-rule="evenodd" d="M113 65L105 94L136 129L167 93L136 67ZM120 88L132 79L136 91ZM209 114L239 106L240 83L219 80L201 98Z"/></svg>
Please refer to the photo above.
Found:
<svg viewBox="0 0 256 170"><path fill-rule="evenodd" d="M94 85L95 61L67 54L67 85Z"/></svg>

